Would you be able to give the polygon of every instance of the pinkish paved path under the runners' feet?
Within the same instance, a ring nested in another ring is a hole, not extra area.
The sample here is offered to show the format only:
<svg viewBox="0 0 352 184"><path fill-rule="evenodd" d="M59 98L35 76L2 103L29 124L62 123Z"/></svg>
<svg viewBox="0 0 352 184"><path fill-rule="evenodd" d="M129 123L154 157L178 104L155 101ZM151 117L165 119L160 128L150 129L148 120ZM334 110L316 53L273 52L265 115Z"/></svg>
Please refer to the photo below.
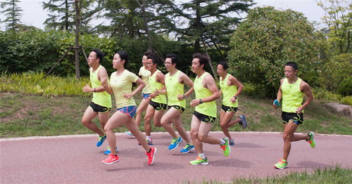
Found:
<svg viewBox="0 0 352 184"><path fill-rule="evenodd" d="M222 133L212 132L222 138ZM117 133L120 162L106 165L107 142L95 147L96 136L59 136L0 139L0 183L184 183L188 181L230 181L241 177L266 177L292 171L313 171L341 164L352 167L352 136L316 135L312 149L306 141L293 143L289 169L273 164L282 157L282 134L232 133L235 145L229 157L219 145L204 144L208 166L191 166L196 152L180 153L185 143L169 151L170 136L154 133L158 148L152 166L137 140Z"/></svg>

